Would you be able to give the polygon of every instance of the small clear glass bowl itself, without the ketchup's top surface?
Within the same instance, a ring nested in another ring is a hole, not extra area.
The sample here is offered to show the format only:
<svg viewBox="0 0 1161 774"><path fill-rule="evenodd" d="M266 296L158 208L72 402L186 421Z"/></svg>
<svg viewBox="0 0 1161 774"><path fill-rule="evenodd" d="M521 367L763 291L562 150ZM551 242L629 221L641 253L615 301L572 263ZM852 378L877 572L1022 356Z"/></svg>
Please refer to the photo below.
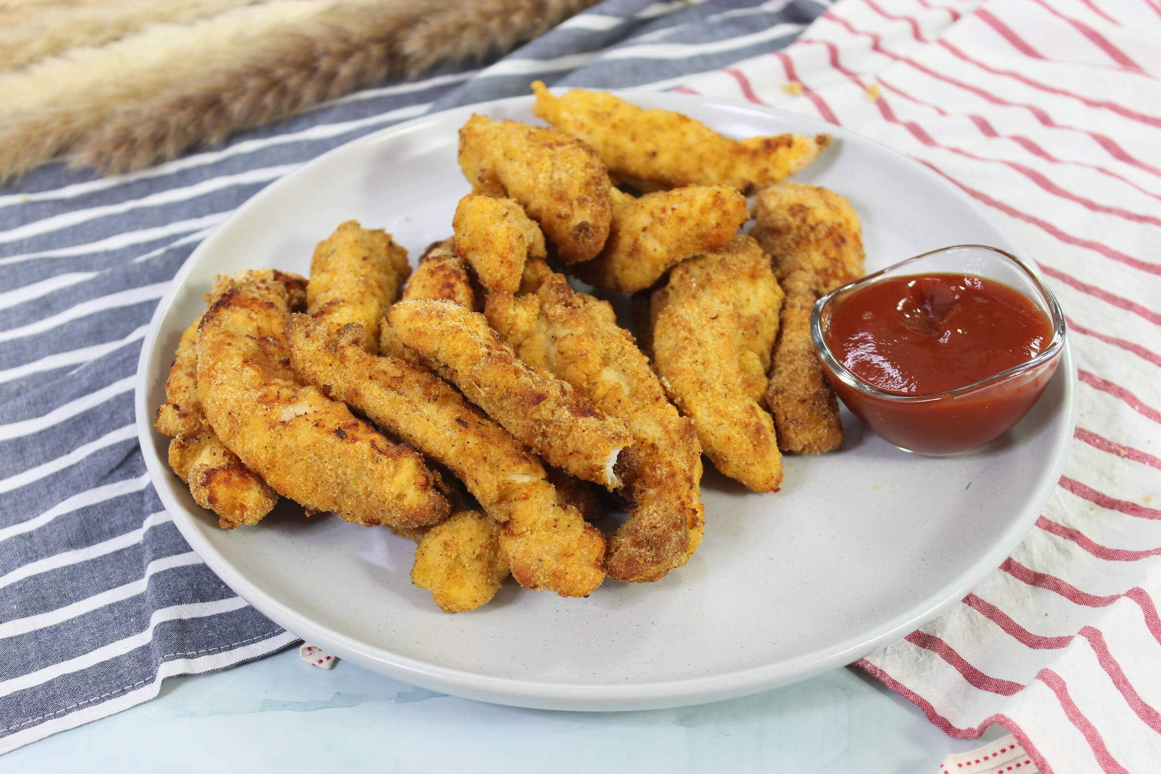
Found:
<svg viewBox="0 0 1161 774"><path fill-rule="evenodd" d="M1032 360L1000 374L918 396L879 390L848 370L827 346L830 317L850 294L901 274L945 273L974 274L1021 291L1052 320L1052 341ZM827 294L814 305L810 335L830 385L864 425L904 451L947 456L989 443L1024 418L1060 362L1065 314L1052 291L1015 255L985 245L956 245L900 261Z"/></svg>

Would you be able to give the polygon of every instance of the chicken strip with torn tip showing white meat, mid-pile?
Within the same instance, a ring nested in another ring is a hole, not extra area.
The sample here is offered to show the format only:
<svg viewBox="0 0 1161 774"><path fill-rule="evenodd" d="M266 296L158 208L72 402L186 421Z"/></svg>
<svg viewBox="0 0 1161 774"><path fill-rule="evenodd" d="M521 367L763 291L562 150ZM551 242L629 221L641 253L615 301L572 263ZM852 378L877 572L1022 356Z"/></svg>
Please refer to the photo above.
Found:
<svg viewBox="0 0 1161 774"><path fill-rule="evenodd" d="M621 485L633 436L571 385L520 361L483 314L446 301L388 310L399 340L549 464L607 489ZM619 464L620 463L620 464Z"/></svg>

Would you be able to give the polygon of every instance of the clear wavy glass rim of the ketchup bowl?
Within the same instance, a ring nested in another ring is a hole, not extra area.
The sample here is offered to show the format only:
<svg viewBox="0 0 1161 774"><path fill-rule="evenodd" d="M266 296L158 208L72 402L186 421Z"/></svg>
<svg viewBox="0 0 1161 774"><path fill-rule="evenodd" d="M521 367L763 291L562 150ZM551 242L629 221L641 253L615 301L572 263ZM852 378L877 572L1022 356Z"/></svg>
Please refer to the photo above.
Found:
<svg viewBox="0 0 1161 774"><path fill-rule="evenodd" d="M998 256L1001 256L1002 259L1007 260L1010 263L1015 263L1016 267L1021 272L1023 272L1029 280L1031 280L1032 285L1044 297L1045 304L1048 308L1048 314L1052 318L1052 341L1050 341L1048 346L1045 347L1043 350L1040 350L1040 353L1036 357L1032 357L1031 360L1025 361L1023 363L1012 366L1011 368L1007 368L1000 371L998 374L993 374L991 376L987 376L976 382L972 382L971 384L956 388L954 390L944 390L942 392L928 392L924 395L900 395L897 392L885 392L884 390L880 390L879 388L874 386L873 384L866 382L865 379L852 372L850 369L843 366L843 363L839 362L837 357L835 357L835 354L830 350L830 347L829 345L827 345L827 340L825 338L823 338L822 334L822 310L836 296L846 292L849 290L852 290L854 288L858 288L860 285L871 284L878 281L885 274L889 272L895 272L901 266L904 266L907 263L911 263L914 261L929 258L937 253L946 253L953 249L964 249L964 248L988 251L990 253L997 254ZM885 269L879 269L873 274L868 274L866 276L859 277L858 280L854 280L853 282L848 282L844 285L835 288L825 296L820 298L817 302L815 302L814 308L810 310L810 339L814 341L815 352L817 352L819 359L822 361L823 366L825 366L827 369L830 370L830 372L834 374L846 386L853 388L854 390L858 390L864 395L873 396L875 398L885 400L890 400L894 403L921 403L942 398L950 398L950 399L962 398L964 396L967 396L969 393L978 392L980 390L993 386L1001 382L1005 382L1012 377L1025 374L1030 370L1039 368L1040 366L1044 366L1045 363L1051 362L1060 354L1061 349L1063 349L1065 346L1066 332L1067 332L1067 324L1065 321L1065 312L1060 308L1060 303L1057 301L1057 296L1052 292L1052 290L1050 290L1048 287L1044 284L1044 282L1036 274L1036 272L1029 268L1029 266L1024 263L1024 261L1016 258L1008 251L1001 249L998 247L993 247L990 245L975 245L975 244L949 245L947 247L938 247L936 249L929 249L925 253L920 253L918 255L913 255L911 258L906 258L902 261L892 263Z"/></svg>

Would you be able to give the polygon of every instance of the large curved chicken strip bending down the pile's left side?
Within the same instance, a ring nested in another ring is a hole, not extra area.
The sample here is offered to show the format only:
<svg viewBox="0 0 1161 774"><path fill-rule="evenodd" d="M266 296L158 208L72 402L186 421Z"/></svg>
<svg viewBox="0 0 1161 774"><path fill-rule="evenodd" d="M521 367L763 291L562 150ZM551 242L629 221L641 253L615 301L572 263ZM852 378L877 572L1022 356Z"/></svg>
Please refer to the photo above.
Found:
<svg viewBox="0 0 1161 774"><path fill-rule="evenodd" d="M197 334L197 395L210 426L276 492L363 526L447 518L441 479L413 449L301 384L289 367L280 282L225 290Z"/></svg>

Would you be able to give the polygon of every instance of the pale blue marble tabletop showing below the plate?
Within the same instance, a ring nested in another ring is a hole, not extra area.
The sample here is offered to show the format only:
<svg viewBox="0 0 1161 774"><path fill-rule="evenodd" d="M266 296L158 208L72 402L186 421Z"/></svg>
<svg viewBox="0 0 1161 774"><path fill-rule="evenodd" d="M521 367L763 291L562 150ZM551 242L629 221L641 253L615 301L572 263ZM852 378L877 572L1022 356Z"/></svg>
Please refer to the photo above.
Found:
<svg viewBox="0 0 1161 774"><path fill-rule="evenodd" d="M349 661L313 668L291 648L172 678L156 700L10 752L0 771L922 774L981 744L944 736L852 668L701 707L548 712L444 696Z"/></svg>

